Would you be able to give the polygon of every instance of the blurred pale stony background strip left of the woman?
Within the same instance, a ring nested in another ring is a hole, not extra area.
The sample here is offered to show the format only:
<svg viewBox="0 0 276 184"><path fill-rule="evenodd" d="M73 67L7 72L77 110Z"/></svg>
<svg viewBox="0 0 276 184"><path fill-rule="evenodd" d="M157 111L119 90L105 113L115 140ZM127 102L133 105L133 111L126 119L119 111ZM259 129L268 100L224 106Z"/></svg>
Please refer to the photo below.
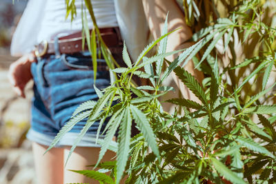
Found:
<svg viewBox="0 0 276 184"><path fill-rule="evenodd" d="M32 83L26 99L12 91L8 68L17 57L10 56L10 42L28 0L0 0L0 183L35 183L34 164L26 132L30 126Z"/></svg>

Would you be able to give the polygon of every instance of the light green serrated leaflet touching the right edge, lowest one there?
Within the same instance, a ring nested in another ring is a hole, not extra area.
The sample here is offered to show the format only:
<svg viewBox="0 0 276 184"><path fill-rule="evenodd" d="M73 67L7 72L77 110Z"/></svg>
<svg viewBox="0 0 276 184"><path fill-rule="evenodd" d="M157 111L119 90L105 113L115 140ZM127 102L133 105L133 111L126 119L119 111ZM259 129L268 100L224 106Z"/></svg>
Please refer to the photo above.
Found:
<svg viewBox="0 0 276 184"><path fill-rule="evenodd" d="M267 154L268 156L275 158L275 156L272 153L268 152L268 150L266 150L265 147L262 147L261 145L259 145L255 141L253 141L252 139L248 139L246 137L239 136L236 139L236 141L238 141L241 145L247 147L249 150L253 150L255 152L259 152L262 154Z"/></svg>

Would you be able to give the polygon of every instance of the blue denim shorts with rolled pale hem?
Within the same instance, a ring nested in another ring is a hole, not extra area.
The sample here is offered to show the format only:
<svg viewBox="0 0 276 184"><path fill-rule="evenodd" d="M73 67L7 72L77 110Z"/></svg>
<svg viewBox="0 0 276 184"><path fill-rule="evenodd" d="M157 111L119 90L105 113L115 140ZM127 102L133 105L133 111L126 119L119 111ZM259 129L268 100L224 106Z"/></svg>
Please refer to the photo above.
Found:
<svg viewBox="0 0 276 184"><path fill-rule="evenodd" d="M99 62L105 62L99 60ZM27 138L35 143L50 145L63 125L70 120L72 113L83 102L97 101L98 96L93 88L102 89L110 85L108 70L98 71L94 81L94 71L89 54L55 54L32 63L31 72L34 79L34 97L32 99L31 127ZM77 123L70 132L59 141L56 147L72 145L87 119ZM95 144L99 122L88 130L78 146L100 147ZM106 123L103 123L101 132ZM99 136L103 139L104 135Z"/></svg>

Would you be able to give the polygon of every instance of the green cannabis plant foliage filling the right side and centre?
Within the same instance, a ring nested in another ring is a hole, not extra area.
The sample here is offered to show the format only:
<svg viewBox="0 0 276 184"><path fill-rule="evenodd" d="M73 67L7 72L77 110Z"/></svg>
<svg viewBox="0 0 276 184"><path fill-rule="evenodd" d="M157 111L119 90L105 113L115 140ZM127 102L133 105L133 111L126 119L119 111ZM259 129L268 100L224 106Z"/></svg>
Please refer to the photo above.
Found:
<svg viewBox="0 0 276 184"><path fill-rule="evenodd" d="M85 2L94 21L92 5ZM170 34L166 21L162 36L146 46L135 63L131 63L124 44L122 54L128 68L110 67L117 80L97 90L99 101L83 103L50 147L80 119L89 116L82 136L92 122L102 124L110 117L105 139L99 140L99 161L94 165L101 170L78 171L80 174L102 183L119 183L123 176L128 176L126 183L275 182L276 99L275 79L270 76L275 74L276 33L271 28L273 22L268 21L272 3L192 0L181 1L181 5L195 33L191 40L197 43L166 53ZM95 27L89 37L99 37L98 33ZM145 57L158 42L157 54ZM105 49L102 44L102 53L111 65ZM182 53L175 61L167 61L168 67L161 72L164 58L176 52ZM204 72L204 81L184 70L190 59ZM175 105L175 113L169 114L159 96L172 90L162 84L172 71L198 101L169 99L167 102ZM150 83L132 85L133 74ZM132 122L141 133L130 138ZM100 163L108 149L117 152L116 161ZM103 170L110 174L103 176Z"/></svg>

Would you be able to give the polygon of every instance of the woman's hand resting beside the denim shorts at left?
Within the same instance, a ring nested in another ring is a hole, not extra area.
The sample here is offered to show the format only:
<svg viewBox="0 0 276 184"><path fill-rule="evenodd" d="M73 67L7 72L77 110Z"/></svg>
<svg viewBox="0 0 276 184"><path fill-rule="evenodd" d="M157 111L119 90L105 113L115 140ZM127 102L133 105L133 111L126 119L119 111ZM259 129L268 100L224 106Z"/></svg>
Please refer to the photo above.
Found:
<svg viewBox="0 0 276 184"><path fill-rule="evenodd" d="M23 98L26 97L24 88L28 81L32 79L30 65L34 61L36 61L36 57L33 53L30 53L23 55L23 57L19 58L17 61L14 61L14 63L10 65L8 79L12 84L14 92Z"/></svg>

